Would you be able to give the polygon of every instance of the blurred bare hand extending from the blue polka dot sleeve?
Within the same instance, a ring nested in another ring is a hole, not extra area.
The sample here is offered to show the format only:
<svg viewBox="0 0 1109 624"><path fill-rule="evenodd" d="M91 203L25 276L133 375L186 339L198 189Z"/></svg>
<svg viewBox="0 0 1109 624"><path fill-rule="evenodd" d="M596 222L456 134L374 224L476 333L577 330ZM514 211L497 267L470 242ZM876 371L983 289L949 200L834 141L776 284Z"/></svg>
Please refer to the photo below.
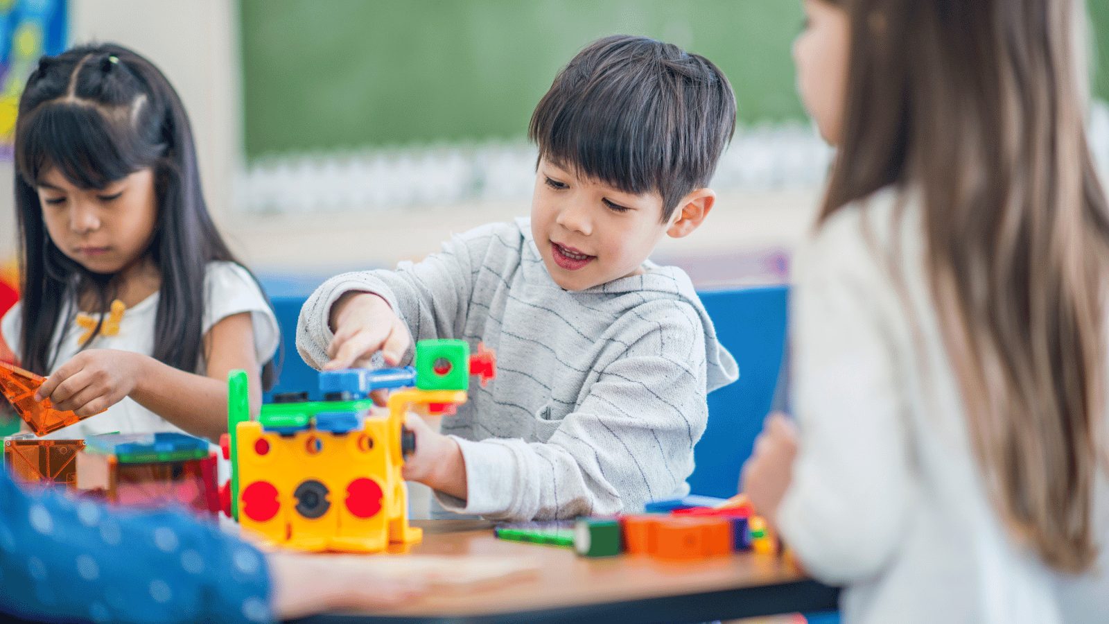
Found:
<svg viewBox="0 0 1109 624"><path fill-rule="evenodd" d="M399 605L424 593L418 577L394 578L375 572L364 557L276 552L267 557L273 607L278 620L335 610Z"/></svg>

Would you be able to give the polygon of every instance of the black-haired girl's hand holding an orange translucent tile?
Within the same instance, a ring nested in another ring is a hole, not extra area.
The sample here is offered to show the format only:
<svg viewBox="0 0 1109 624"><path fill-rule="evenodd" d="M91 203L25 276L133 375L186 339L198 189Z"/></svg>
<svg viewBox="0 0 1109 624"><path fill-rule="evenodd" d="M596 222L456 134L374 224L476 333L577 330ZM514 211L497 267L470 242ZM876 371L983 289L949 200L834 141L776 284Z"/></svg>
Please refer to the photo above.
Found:
<svg viewBox="0 0 1109 624"><path fill-rule="evenodd" d="M50 399L55 410L72 410L79 416L99 414L131 394L145 359L113 349L82 351L54 371L34 399Z"/></svg>

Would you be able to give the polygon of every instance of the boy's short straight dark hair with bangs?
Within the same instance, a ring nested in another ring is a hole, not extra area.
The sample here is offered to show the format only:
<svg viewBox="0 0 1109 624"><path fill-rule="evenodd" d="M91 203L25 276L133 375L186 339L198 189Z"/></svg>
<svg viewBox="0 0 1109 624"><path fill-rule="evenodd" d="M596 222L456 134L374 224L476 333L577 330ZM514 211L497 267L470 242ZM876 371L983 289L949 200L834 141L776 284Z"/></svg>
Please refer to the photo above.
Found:
<svg viewBox="0 0 1109 624"><path fill-rule="evenodd" d="M735 95L711 61L671 43L617 34L554 77L528 138L539 157L628 193L662 195L662 221L709 184L735 131Z"/></svg>

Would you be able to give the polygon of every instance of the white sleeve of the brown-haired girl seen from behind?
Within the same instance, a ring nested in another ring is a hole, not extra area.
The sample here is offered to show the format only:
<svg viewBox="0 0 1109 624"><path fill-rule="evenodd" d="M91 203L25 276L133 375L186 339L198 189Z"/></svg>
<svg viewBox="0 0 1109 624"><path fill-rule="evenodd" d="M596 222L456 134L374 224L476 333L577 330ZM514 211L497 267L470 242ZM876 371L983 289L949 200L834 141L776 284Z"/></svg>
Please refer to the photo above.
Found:
<svg viewBox="0 0 1109 624"><path fill-rule="evenodd" d="M859 220L824 225L793 293L800 450L779 509L782 537L831 583L873 575L909 520L915 483L888 304Z"/></svg>

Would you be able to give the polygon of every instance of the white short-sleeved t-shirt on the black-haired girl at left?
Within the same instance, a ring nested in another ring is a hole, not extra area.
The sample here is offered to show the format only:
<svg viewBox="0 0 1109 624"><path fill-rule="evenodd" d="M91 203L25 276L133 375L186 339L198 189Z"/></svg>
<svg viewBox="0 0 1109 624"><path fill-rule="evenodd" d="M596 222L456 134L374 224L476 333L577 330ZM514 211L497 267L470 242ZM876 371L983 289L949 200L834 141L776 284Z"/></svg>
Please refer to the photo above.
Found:
<svg viewBox="0 0 1109 624"><path fill-rule="evenodd" d="M116 349L120 351L131 351L151 355L154 352L154 322L157 315L159 293L154 293L133 308L129 308L123 313L120 322L118 335L98 335L88 345L89 349ZM68 318L72 301L67 302L63 316ZM3 333L4 342L17 353L21 353L20 345L20 316L21 304L4 314L0 321L0 331ZM213 325L221 320L238 314L251 312L251 320L254 324L254 349L260 363L269 361L277 351L281 340L281 332L277 329L277 319L274 316L269 305L266 304L265 296L251 274L234 262L211 262L207 265L207 273L204 276L204 319L201 324L202 333L206 334ZM54 332L54 343L58 342L62 333L62 326ZM58 358L54 359L51 373L59 366L68 362L81 350L78 343L84 331L75 325L65 332L65 339L58 350ZM197 372L203 374L205 364L203 353L201 362L197 363ZM119 431L120 433L147 433L160 431L181 431L170 424L161 416L135 403L131 397L125 397L106 412L88 417L77 424L60 429L45 437L52 439L83 439L98 433L109 433Z"/></svg>

